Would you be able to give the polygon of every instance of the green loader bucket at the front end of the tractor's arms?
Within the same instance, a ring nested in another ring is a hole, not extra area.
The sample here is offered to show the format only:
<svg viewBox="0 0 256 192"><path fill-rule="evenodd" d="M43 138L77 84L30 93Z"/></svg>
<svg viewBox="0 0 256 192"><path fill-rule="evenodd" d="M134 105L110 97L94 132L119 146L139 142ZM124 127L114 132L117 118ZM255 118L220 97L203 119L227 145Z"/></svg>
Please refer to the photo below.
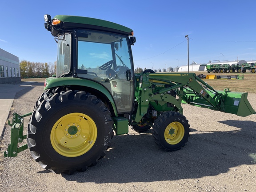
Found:
<svg viewBox="0 0 256 192"><path fill-rule="evenodd" d="M243 117L256 114L247 99L247 92L225 92L224 94L227 94L224 98L224 112Z"/></svg>

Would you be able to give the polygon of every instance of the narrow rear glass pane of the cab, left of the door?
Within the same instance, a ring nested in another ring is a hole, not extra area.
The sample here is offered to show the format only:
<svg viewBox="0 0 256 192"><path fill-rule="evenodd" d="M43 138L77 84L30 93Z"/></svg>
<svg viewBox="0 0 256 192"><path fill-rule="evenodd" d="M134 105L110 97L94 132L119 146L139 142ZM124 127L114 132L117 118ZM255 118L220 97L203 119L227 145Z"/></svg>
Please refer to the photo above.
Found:
<svg viewBox="0 0 256 192"><path fill-rule="evenodd" d="M56 76L63 76L70 71L71 35L58 37Z"/></svg>

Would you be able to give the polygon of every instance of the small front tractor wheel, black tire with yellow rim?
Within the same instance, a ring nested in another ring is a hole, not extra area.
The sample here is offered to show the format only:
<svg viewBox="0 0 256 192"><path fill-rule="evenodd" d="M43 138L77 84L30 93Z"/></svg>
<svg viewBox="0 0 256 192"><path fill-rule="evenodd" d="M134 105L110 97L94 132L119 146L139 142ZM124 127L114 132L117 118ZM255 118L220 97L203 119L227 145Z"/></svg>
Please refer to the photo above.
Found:
<svg viewBox="0 0 256 192"><path fill-rule="evenodd" d="M188 142L190 125L188 120L178 112L164 112L158 116L153 125L153 139L165 151L176 151Z"/></svg>

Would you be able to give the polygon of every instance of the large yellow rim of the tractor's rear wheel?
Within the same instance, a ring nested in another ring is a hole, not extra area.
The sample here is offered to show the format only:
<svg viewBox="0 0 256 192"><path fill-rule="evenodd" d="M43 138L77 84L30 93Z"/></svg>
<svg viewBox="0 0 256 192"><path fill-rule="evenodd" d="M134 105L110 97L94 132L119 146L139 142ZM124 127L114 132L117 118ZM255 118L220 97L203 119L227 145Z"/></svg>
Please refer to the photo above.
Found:
<svg viewBox="0 0 256 192"><path fill-rule="evenodd" d="M70 113L56 121L50 138L52 147L60 155L81 156L95 144L97 127L89 116L83 113Z"/></svg>

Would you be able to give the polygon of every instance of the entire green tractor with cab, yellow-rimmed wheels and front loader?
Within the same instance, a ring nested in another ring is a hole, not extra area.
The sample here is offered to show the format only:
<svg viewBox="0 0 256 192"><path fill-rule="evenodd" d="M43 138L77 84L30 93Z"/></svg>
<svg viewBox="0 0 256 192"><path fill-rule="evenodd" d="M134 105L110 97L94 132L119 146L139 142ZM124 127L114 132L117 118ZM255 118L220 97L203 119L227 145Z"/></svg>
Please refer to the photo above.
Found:
<svg viewBox="0 0 256 192"><path fill-rule="evenodd" d="M195 73L134 74L136 38L130 28L80 16L44 19L57 41L56 76L45 80L32 113L14 114L5 157L29 148L42 168L72 174L97 164L114 132L126 134L129 126L136 132L152 128L153 140L165 151L182 148L190 132L182 104L256 114L248 93L216 91ZM30 115L23 135L23 118Z"/></svg>

